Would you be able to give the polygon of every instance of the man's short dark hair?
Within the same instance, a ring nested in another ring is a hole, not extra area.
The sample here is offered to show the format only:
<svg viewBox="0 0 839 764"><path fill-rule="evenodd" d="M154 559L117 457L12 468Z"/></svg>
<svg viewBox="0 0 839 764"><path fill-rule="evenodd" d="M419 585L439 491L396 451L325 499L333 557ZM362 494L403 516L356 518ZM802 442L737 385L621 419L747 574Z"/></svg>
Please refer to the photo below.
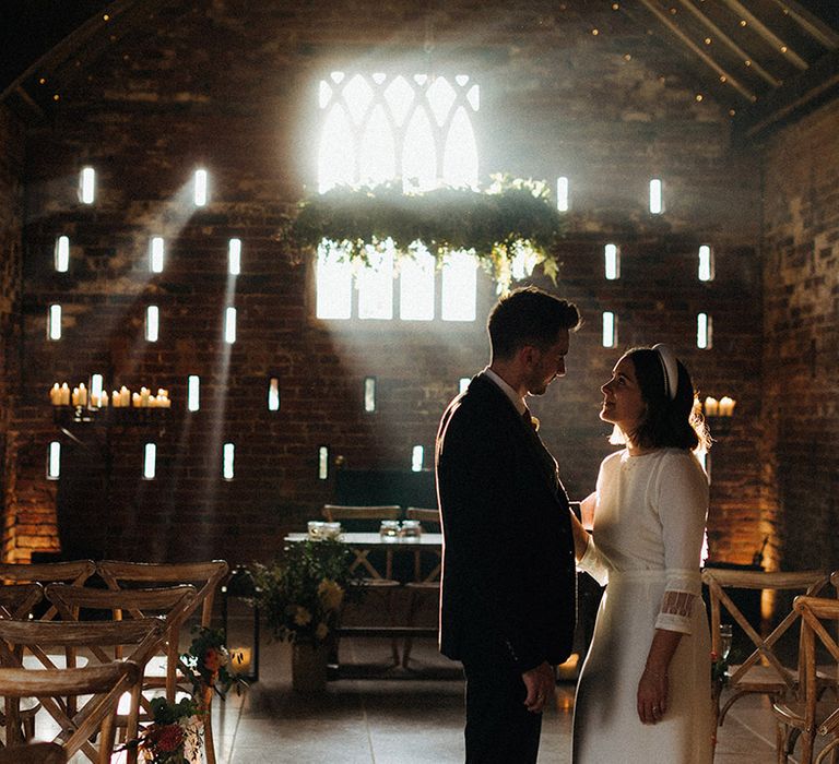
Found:
<svg viewBox="0 0 839 764"><path fill-rule="evenodd" d="M493 358L504 359L512 358L524 345L545 349L556 343L562 330L574 331L579 325L580 311L574 302L534 286L501 297L486 322Z"/></svg>

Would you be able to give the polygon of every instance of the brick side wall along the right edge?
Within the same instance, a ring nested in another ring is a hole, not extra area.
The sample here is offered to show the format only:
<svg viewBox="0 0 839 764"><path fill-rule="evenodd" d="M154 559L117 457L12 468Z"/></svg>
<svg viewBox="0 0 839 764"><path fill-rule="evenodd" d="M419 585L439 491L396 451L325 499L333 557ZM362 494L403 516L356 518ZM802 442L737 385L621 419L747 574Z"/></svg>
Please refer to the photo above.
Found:
<svg viewBox="0 0 839 764"><path fill-rule="evenodd" d="M839 104L768 141L764 526L787 568L839 563Z"/></svg>

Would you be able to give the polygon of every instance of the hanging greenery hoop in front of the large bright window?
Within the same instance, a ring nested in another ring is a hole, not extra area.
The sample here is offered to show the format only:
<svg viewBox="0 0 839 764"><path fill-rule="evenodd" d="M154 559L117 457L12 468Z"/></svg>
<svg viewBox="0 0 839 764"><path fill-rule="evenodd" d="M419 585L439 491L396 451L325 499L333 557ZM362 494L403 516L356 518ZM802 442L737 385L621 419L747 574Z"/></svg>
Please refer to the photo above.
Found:
<svg viewBox="0 0 839 764"><path fill-rule="evenodd" d="M530 276L536 266L556 282L556 243L563 230L544 181L495 175L486 191L439 188L403 193L401 183L335 187L300 202L281 235L309 252L326 240L342 256L364 265L385 247L404 258L414 256L422 246L438 265L449 252L466 251L504 293L513 278Z"/></svg>

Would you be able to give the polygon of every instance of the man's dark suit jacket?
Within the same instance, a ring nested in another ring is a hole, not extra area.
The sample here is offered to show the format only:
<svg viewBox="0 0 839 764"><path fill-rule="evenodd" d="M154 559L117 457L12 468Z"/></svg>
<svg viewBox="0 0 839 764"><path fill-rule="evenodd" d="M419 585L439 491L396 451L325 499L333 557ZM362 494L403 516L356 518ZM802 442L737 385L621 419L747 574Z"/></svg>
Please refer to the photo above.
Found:
<svg viewBox="0 0 839 764"><path fill-rule="evenodd" d="M568 498L556 463L484 374L451 402L437 434L444 533L440 650L487 643L527 671L569 655L576 577Z"/></svg>

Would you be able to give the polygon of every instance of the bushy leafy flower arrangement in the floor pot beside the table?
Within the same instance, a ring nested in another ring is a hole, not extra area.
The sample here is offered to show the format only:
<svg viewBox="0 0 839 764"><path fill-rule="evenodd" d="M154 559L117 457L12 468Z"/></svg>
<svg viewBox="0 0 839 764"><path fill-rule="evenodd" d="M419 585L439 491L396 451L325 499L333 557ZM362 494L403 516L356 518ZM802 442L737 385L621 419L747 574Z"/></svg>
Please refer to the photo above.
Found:
<svg viewBox="0 0 839 764"><path fill-rule="evenodd" d="M256 597L274 637L318 646L338 625L343 604L361 587L355 554L338 539L288 545L272 564L253 565Z"/></svg>

